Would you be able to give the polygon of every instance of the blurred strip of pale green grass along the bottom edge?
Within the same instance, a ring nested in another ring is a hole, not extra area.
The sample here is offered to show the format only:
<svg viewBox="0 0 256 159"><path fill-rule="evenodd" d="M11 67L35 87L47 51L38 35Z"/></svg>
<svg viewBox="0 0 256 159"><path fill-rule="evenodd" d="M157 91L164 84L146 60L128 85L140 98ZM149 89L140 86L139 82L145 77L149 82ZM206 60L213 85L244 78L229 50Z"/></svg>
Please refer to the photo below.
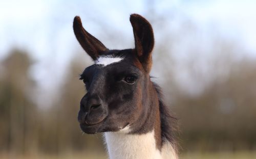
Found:
<svg viewBox="0 0 256 159"><path fill-rule="evenodd" d="M78 153L63 153L59 155L47 154L31 154L24 156L17 156L15 154L0 154L0 158L46 158L46 159L69 159L69 158L86 158L86 159L106 159L106 154L102 152L78 152ZM191 152L180 155L180 159L256 159L256 151L240 151L240 152Z"/></svg>

